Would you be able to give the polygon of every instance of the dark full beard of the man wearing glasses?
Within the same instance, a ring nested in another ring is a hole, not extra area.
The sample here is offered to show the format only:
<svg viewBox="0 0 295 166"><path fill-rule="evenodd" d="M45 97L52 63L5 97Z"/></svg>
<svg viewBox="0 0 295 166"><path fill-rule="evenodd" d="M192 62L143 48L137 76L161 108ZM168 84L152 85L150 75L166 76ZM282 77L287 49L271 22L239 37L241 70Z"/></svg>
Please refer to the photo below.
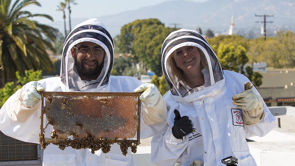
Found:
<svg viewBox="0 0 295 166"><path fill-rule="evenodd" d="M102 71L102 68L103 68L103 64L104 64L104 59L102 61L102 63L98 63L98 61L92 61L92 62L95 62L97 65L94 69L87 69L85 68L85 66L83 65L83 62L86 62L87 60L82 60L82 61L78 61L77 60L77 55L75 55L74 57L75 59L75 67L76 67L76 70L81 77L83 77L84 79L89 79L89 80L95 80L98 78L99 74L101 73Z"/></svg>

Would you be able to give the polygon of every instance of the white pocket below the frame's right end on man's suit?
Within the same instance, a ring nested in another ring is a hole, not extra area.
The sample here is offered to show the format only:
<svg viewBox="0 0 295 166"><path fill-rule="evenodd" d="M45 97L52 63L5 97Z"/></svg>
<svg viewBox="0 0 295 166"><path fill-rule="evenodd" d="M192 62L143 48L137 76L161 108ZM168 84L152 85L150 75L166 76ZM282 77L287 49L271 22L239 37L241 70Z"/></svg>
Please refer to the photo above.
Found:
<svg viewBox="0 0 295 166"><path fill-rule="evenodd" d="M128 151L128 153L131 153ZM127 166L131 163L131 156L130 155L122 155L116 153L107 153L105 159L106 166Z"/></svg>

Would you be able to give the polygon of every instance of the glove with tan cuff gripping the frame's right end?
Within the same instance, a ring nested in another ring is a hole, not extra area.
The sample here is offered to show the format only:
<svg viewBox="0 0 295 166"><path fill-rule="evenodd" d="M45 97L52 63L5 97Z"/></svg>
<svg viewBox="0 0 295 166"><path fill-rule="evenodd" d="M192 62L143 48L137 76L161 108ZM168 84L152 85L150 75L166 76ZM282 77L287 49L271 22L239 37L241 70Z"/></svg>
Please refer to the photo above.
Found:
<svg viewBox="0 0 295 166"><path fill-rule="evenodd" d="M155 124L166 118L166 102L154 84L144 83L134 92L143 92L139 99L143 103L143 120L146 124Z"/></svg>

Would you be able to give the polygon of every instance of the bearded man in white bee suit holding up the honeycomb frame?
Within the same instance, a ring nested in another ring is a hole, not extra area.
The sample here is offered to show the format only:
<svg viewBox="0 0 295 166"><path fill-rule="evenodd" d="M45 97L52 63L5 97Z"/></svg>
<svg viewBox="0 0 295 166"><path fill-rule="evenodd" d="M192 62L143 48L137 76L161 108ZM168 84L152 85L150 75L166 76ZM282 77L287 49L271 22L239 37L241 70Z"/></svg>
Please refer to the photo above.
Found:
<svg viewBox="0 0 295 166"><path fill-rule="evenodd" d="M77 25L66 38L61 61L61 77L53 77L25 84L13 94L0 110L0 130L21 141L39 143L41 96L37 91L55 92L143 92L141 138L154 132L149 124L166 118L166 103L152 84L142 84L127 76L110 76L114 59L111 35L97 19ZM45 122L45 124L48 122ZM48 125L45 137L53 127ZM126 156L114 144L107 154L98 150L60 150L48 145L44 150L43 165L135 165L130 148Z"/></svg>

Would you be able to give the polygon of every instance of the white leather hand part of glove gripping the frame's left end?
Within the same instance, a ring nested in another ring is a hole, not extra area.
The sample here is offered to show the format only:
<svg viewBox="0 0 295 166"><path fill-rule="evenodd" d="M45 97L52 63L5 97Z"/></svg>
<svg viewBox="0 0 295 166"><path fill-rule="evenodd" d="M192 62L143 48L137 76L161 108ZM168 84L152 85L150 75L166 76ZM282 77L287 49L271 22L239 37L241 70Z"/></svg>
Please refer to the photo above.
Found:
<svg viewBox="0 0 295 166"><path fill-rule="evenodd" d="M38 81L26 83L22 89L21 97L26 107L38 103L41 100L41 95L38 92L45 90Z"/></svg>

